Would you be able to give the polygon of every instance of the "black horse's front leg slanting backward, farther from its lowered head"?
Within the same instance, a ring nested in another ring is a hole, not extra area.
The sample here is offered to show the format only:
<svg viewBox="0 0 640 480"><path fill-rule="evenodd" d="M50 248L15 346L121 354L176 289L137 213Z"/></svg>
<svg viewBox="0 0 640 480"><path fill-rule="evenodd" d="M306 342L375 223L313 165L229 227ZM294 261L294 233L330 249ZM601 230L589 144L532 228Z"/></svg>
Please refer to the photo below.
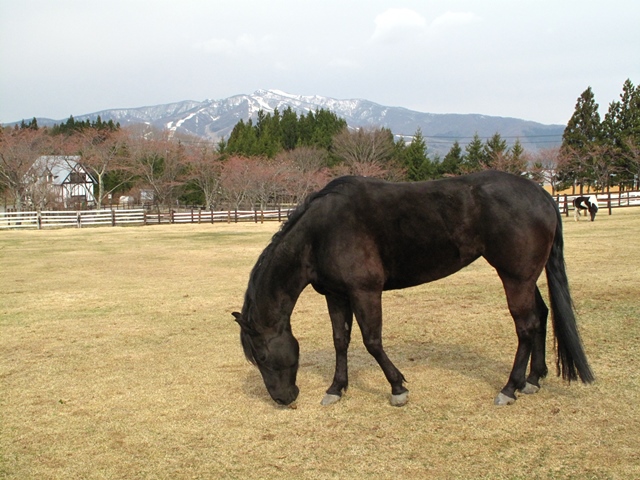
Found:
<svg viewBox="0 0 640 480"><path fill-rule="evenodd" d="M376 359L391 385L391 404L401 407L408 401L409 390L400 370L389 360L382 347L382 292L360 292L351 298L351 306L362 332L367 351Z"/></svg>

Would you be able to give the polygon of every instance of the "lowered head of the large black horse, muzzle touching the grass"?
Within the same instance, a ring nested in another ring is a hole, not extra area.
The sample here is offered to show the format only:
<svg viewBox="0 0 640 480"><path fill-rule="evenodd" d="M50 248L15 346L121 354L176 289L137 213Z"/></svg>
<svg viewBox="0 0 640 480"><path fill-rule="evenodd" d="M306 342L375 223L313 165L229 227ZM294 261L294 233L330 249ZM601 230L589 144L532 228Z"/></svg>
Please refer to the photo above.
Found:
<svg viewBox="0 0 640 480"><path fill-rule="evenodd" d="M238 312L233 316L240 325L244 354L260 370L271 398L280 405L295 401L300 391L296 386L300 348L291 329L253 325Z"/></svg>

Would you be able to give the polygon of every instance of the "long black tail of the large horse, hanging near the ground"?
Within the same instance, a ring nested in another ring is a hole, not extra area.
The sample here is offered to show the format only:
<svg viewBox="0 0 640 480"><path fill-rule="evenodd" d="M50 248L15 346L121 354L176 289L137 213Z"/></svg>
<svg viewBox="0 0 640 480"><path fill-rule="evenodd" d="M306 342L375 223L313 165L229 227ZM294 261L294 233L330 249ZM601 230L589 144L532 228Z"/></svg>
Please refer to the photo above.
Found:
<svg viewBox="0 0 640 480"><path fill-rule="evenodd" d="M549 284L551 318L557 349L557 374L562 375L562 378L568 381L577 380L580 376L583 383L591 383L595 378L580 340L573 301L569 293L569 281L563 253L562 217L557 207L556 214L558 217L556 234L545 269Z"/></svg>

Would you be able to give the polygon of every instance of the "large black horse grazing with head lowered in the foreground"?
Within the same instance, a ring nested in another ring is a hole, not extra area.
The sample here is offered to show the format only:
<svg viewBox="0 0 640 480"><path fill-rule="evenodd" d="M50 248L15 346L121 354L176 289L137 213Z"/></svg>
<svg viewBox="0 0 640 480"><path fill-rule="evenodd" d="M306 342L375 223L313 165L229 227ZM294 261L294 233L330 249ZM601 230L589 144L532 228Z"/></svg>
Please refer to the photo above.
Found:
<svg viewBox="0 0 640 480"><path fill-rule="evenodd" d="M391 384L391 403L403 405L405 379L382 346L382 291L438 280L481 256L502 280L518 335L513 370L495 403L513 403L516 391L536 392L547 375L549 310L536 285L543 269L557 373L592 382L569 295L560 212L535 183L496 171L416 183L342 177L310 195L258 258L242 313L233 313L244 353L277 403L297 398L299 347L290 316L311 284L326 297L336 350L322 404L347 389L355 314L368 352Z"/></svg>

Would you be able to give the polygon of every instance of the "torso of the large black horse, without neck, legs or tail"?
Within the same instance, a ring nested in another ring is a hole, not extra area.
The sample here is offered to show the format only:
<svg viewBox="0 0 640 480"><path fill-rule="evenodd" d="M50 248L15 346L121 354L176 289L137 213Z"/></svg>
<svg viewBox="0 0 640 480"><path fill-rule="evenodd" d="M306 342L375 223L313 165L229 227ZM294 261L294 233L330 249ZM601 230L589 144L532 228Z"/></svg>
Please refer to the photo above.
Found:
<svg viewBox="0 0 640 480"><path fill-rule="evenodd" d="M480 256L518 275L533 262L539 274L556 222L539 186L495 171L413 183L343 178L309 210L319 275L360 274L384 289L443 278Z"/></svg>

